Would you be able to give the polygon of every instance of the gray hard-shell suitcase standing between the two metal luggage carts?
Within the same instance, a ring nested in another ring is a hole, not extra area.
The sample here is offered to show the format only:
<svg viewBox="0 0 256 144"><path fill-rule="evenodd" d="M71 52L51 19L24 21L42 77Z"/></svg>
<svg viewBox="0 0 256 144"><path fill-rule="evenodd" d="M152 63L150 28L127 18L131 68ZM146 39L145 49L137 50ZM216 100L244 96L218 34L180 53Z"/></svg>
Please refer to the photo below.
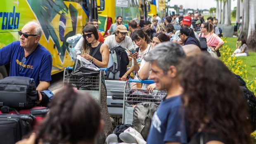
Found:
<svg viewBox="0 0 256 144"><path fill-rule="evenodd" d="M126 81L105 80L107 107L111 116L123 116L123 91Z"/></svg>

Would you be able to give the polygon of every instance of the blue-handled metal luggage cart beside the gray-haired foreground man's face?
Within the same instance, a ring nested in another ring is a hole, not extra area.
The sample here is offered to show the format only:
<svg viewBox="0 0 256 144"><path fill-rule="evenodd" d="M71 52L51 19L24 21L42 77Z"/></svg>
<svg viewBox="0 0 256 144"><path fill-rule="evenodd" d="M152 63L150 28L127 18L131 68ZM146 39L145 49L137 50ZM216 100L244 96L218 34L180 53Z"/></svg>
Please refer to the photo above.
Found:
<svg viewBox="0 0 256 144"><path fill-rule="evenodd" d="M130 78L126 81L123 94L123 123L130 125L133 123L133 109L136 104L141 102L153 102L159 105L167 94L165 90L153 90L149 92L141 88L133 89L130 85L132 82L152 84L154 80L134 80Z"/></svg>

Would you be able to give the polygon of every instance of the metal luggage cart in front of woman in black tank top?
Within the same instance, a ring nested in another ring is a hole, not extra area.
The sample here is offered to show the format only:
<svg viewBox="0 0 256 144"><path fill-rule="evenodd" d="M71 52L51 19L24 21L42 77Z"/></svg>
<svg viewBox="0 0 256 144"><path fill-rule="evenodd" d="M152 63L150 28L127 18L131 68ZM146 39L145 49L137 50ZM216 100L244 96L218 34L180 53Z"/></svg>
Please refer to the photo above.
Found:
<svg viewBox="0 0 256 144"><path fill-rule="evenodd" d="M102 76L104 76L104 71L107 71L107 68L100 68L99 74L92 76L69 73L69 71L72 69L73 67L70 66L64 69L64 84L75 86L78 92L89 93L93 98L95 98L100 103L100 92L102 85L102 83L100 82L102 80Z"/></svg>

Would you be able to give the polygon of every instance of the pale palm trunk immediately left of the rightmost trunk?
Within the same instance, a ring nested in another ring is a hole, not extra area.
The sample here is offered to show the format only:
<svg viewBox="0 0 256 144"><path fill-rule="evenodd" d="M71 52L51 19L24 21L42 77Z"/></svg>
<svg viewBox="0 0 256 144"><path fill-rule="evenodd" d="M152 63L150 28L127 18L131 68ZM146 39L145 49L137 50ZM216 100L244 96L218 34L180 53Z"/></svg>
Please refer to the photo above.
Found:
<svg viewBox="0 0 256 144"><path fill-rule="evenodd" d="M249 27L249 0L243 0L243 16L242 16L242 27L239 33L238 40L241 38L247 39L248 27Z"/></svg>

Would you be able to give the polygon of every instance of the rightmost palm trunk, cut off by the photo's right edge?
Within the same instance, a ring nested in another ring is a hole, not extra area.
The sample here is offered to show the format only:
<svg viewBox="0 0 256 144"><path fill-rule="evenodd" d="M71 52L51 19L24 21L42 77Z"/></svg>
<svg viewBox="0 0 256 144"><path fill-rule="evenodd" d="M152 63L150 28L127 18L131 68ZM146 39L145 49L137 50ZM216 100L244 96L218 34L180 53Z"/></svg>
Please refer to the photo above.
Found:
<svg viewBox="0 0 256 144"><path fill-rule="evenodd" d="M250 0L249 7L250 19L247 45L250 50L256 51L256 1Z"/></svg>

